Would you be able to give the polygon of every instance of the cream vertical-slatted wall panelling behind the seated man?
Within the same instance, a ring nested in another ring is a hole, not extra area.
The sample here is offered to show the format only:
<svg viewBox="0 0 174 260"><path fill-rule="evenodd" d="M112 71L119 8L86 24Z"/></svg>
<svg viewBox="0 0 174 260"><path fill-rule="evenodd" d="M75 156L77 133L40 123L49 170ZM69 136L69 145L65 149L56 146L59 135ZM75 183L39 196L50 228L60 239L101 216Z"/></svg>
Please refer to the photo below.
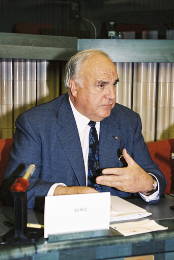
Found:
<svg viewBox="0 0 174 260"><path fill-rule="evenodd" d="M138 112L146 142L174 138L174 63L114 63L117 102ZM0 59L0 138L21 112L66 92L64 62Z"/></svg>

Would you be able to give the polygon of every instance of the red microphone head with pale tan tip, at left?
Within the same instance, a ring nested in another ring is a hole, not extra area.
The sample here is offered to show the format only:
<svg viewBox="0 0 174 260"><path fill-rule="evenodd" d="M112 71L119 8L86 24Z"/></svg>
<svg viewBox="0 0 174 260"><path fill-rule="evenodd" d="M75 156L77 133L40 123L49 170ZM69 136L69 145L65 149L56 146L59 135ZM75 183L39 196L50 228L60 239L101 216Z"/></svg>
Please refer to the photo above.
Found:
<svg viewBox="0 0 174 260"><path fill-rule="evenodd" d="M28 168L26 169L23 177L18 178L12 187L10 188L11 192L25 192L27 187L29 186L29 180L31 176L33 175L33 172L35 171L36 166L35 164L30 164Z"/></svg>

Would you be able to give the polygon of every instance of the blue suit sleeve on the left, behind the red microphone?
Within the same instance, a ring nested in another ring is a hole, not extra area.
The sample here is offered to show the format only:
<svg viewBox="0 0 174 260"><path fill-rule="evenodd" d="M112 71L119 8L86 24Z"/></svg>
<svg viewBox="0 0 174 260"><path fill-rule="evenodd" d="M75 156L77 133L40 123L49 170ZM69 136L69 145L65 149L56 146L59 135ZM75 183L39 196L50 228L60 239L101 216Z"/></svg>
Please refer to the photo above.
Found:
<svg viewBox="0 0 174 260"><path fill-rule="evenodd" d="M36 170L30 178L30 185L27 189L27 207L43 210L44 197L53 183L40 178L42 168L41 138L39 131L37 132L32 125L24 114L19 115L16 120L14 142L10 150L0 196L3 205L12 206L13 196L10 193L10 187L17 178L23 176L28 165L34 163Z"/></svg>

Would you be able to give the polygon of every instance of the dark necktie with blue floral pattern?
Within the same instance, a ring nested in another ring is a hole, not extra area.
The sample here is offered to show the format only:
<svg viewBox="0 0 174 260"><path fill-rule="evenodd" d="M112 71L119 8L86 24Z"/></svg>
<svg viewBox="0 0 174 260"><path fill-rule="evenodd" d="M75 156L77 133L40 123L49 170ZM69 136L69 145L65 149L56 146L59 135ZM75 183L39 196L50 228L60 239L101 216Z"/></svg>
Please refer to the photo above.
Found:
<svg viewBox="0 0 174 260"><path fill-rule="evenodd" d="M88 186L101 192L101 185L95 181L99 169L99 141L95 128L96 122L90 121L88 125L91 127L89 133Z"/></svg>

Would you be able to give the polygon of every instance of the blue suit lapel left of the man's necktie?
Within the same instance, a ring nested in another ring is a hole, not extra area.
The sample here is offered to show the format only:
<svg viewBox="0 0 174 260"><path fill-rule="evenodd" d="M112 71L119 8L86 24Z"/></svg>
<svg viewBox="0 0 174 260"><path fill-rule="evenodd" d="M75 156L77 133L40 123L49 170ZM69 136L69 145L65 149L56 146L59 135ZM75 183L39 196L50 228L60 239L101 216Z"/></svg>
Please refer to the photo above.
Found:
<svg viewBox="0 0 174 260"><path fill-rule="evenodd" d="M65 95L65 98L60 106L57 123L59 124L57 136L62 143L78 183L80 186L86 186L81 143L74 115L69 103L68 94Z"/></svg>

